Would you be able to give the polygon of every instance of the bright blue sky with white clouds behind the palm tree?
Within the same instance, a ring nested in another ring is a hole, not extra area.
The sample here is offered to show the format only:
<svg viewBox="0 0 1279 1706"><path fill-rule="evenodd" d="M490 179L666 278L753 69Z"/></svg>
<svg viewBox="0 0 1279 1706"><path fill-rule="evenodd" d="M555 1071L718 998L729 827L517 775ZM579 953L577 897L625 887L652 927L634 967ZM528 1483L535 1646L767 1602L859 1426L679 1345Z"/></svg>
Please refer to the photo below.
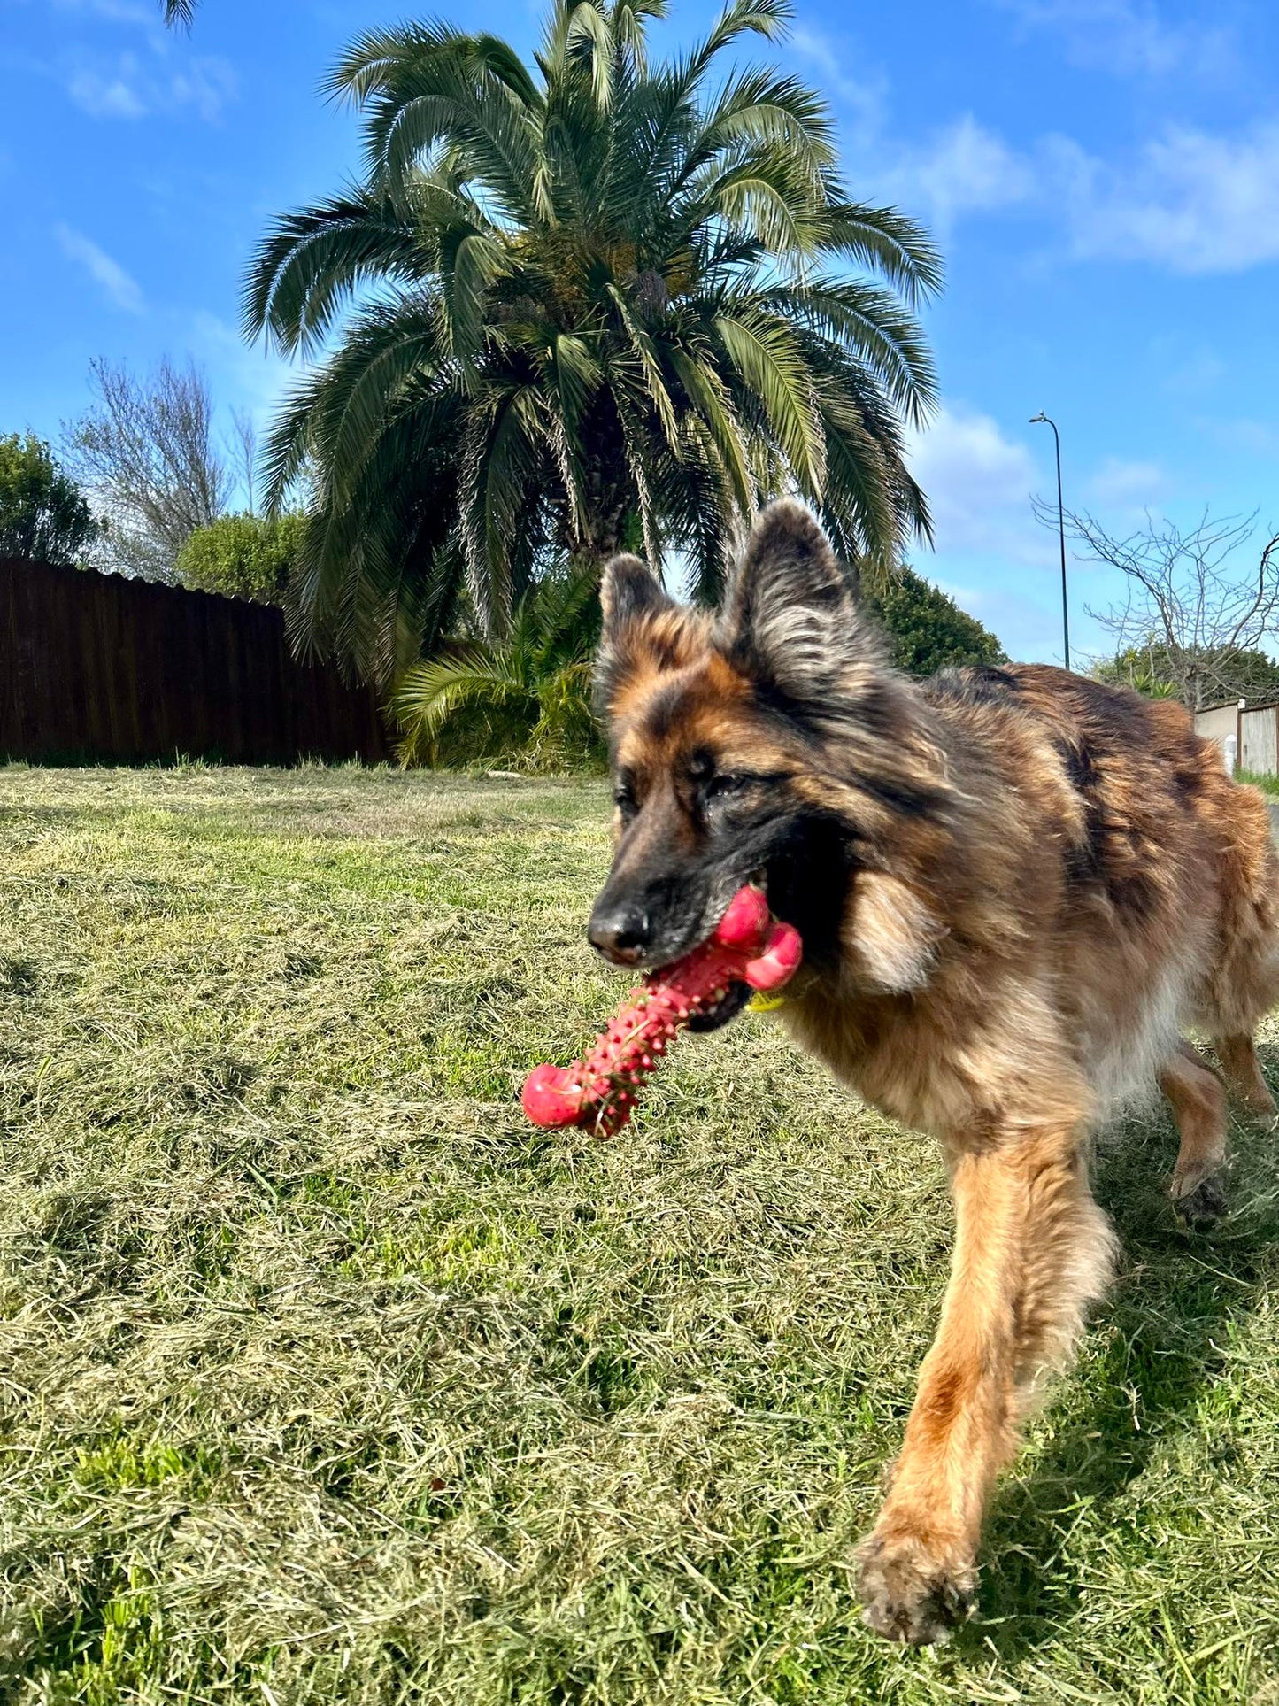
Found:
<svg viewBox="0 0 1279 1706"><path fill-rule="evenodd" d="M423 9L425 10L425 9ZM467 26L472 7L440 7ZM680 5L655 46L699 32ZM266 420L286 368L237 334L266 220L355 171L317 90L373 0L0 0L0 432L56 440L92 357L193 355ZM537 10L491 0L530 48ZM1279 7L1274 0L798 0L779 49L836 113L854 193L928 220L943 408L914 447L936 515L917 566L1013 655L1059 659L1052 495L1114 531L1146 508L1279 525ZM229 425L229 421L227 421ZM1073 636L1115 592L1071 563Z"/></svg>

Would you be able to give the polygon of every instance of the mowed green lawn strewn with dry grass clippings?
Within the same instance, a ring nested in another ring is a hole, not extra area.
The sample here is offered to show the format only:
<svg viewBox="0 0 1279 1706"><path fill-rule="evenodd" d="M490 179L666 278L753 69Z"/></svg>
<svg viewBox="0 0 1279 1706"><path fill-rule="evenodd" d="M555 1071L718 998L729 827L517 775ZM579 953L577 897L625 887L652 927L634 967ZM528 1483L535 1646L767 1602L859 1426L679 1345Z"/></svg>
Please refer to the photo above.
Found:
<svg viewBox="0 0 1279 1706"><path fill-rule="evenodd" d="M935 1146L767 1017L607 1146L517 1092L624 984L600 783L0 769L0 1699L1279 1703L1279 1138L1112 1302L981 1617L853 1551L938 1310Z"/></svg>

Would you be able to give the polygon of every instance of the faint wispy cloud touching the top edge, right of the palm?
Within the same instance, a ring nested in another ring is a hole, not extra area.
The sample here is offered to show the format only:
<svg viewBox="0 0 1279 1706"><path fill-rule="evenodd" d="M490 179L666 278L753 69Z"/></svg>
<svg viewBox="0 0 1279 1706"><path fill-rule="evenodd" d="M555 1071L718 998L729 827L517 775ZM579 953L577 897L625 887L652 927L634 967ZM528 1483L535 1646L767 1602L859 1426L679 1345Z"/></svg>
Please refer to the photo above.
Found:
<svg viewBox="0 0 1279 1706"><path fill-rule="evenodd" d="M1223 77L1238 49L1223 26L1170 24L1153 0L996 0L1028 29L1052 31L1066 56L1120 77Z"/></svg>

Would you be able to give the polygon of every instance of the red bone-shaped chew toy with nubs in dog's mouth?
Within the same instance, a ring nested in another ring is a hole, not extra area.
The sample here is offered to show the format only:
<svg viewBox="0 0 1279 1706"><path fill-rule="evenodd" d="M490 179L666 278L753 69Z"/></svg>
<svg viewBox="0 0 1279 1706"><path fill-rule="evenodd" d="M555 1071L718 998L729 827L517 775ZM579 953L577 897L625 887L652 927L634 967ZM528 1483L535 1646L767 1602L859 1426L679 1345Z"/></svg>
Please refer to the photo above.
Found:
<svg viewBox="0 0 1279 1706"><path fill-rule="evenodd" d="M631 1117L640 1088L689 1018L721 1000L730 983L779 989L802 957L800 931L776 923L759 889L738 889L709 942L650 972L585 1059L529 1073L525 1114L535 1126L585 1126L611 1138Z"/></svg>

